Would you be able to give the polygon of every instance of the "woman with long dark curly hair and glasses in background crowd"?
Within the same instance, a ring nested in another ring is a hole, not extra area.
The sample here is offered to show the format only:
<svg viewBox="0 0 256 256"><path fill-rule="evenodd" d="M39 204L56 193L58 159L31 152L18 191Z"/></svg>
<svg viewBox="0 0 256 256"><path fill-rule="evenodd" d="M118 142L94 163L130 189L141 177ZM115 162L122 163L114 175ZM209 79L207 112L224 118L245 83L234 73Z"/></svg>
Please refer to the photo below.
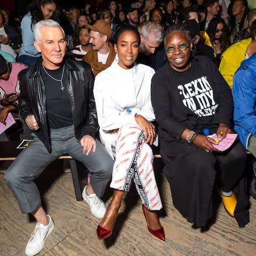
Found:
<svg viewBox="0 0 256 256"><path fill-rule="evenodd" d="M230 45L225 21L220 17L214 17L210 21L206 33L210 37L214 53L217 56L215 60L219 67L221 53Z"/></svg>

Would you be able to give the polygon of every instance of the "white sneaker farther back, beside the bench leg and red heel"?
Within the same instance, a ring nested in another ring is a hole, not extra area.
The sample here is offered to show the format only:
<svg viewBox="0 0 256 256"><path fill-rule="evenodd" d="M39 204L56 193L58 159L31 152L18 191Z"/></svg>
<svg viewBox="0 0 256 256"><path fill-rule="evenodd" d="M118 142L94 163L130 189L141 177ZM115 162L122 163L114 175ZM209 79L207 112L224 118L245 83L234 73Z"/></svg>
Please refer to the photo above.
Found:
<svg viewBox="0 0 256 256"><path fill-rule="evenodd" d="M96 218L103 218L105 212L106 212L106 207L103 203L103 201L95 194L91 194L89 196L86 195L85 189L87 186L84 187L82 196L84 198L84 201L89 204L91 213L94 215Z"/></svg>

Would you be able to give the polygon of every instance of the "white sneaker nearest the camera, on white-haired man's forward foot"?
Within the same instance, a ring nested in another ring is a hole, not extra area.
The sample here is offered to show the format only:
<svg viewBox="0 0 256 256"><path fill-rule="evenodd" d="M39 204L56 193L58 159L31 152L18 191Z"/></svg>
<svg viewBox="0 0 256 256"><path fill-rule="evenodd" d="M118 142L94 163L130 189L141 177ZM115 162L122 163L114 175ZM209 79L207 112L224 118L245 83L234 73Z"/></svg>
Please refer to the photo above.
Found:
<svg viewBox="0 0 256 256"><path fill-rule="evenodd" d="M34 256L43 249L47 236L51 233L51 231L54 228L52 218L50 217L50 215L47 216L50 220L47 226L44 226L43 224L36 222L35 230L31 234L31 237L25 249L25 253L27 256Z"/></svg>

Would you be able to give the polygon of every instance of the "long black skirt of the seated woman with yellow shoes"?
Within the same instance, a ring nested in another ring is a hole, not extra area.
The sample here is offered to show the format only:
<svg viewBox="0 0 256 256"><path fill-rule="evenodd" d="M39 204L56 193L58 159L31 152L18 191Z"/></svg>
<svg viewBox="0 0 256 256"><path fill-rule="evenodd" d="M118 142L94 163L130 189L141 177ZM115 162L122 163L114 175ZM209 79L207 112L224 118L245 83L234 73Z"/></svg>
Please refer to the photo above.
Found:
<svg viewBox="0 0 256 256"><path fill-rule="evenodd" d="M244 178L246 154L239 140L222 153L207 153L185 141L161 140L160 153L173 204L189 222L203 227L212 217L215 181L224 191L234 191L238 226L244 227L250 221Z"/></svg>

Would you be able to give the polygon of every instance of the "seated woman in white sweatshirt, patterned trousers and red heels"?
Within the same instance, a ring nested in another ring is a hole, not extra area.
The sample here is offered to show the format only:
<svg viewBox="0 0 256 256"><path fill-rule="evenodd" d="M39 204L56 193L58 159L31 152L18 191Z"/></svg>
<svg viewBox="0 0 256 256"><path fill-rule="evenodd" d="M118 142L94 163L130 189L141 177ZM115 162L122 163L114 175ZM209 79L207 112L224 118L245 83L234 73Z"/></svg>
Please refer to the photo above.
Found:
<svg viewBox="0 0 256 256"><path fill-rule="evenodd" d="M117 31L114 49L117 58L112 65L95 77L94 97L100 125L100 139L115 159L110 184L114 195L101 220L99 239L111 235L125 191L132 179L143 202L148 230L165 240L164 230L156 210L162 208L156 185L150 148L155 140L155 119L151 106L150 86L154 70L136 64L140 35L133 27Z"/></svg>

